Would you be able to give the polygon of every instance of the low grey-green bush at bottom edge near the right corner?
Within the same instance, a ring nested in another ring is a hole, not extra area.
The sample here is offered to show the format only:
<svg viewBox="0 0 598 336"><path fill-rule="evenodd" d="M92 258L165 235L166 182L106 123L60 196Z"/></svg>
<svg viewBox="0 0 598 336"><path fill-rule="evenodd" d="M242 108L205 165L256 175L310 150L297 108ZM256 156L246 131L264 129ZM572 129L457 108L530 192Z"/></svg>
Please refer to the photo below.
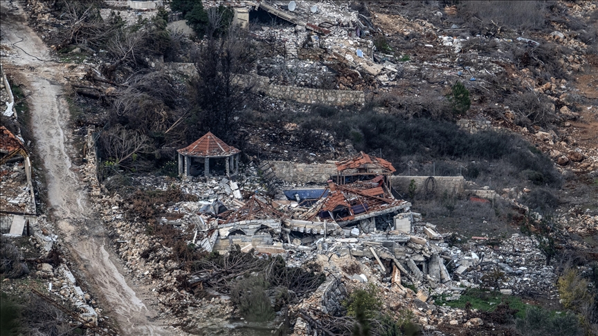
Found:
<svg viewBox="0 0 598 336"><path fill-rule="evenodd" d="M526 336L581 336L583 330L571 312L552 314L548 310L531 306L523 319L517 319L516 328Z"/></svg>

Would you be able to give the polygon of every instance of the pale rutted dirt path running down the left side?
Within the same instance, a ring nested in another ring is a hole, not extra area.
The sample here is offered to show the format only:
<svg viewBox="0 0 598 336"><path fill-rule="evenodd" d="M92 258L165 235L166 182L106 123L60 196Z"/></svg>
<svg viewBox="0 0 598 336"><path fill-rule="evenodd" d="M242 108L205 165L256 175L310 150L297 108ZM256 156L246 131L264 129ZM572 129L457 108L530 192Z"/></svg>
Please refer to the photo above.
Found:
<svg viewBox="0 0 598 336"><path fill-rule="evenodd" d="M172 329L167 331L169 328L152 321L156 312L145 306L119 272L118 259L105 248L107 239L102 223L93 213L82 183L71 169L69 106L62 96L64 64L49 61L52 57L48 48L26 25L17 1L0 1L0 6L2 42L12 45L18 53L15 57L3 57L2 61L6 66L24 69L12 74L30 91L32 132L44 164L48 207L64 241L123 334L172 335Z"/></svg>

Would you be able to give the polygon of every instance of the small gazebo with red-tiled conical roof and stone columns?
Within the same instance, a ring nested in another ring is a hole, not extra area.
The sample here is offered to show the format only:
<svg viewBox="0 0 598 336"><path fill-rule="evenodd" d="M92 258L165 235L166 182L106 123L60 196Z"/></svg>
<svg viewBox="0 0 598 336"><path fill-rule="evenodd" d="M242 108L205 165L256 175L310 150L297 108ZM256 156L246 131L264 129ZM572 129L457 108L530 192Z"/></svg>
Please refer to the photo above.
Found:
<svg viewBox="0 0 598 336"><path fill-rule="evenodd" d="M209 177L210 171L216 174L239 172L239 149L228 146L211 132L206 133L188 147L179 149L179 175ZM212 160L210 160L212 159Z"/></svg>

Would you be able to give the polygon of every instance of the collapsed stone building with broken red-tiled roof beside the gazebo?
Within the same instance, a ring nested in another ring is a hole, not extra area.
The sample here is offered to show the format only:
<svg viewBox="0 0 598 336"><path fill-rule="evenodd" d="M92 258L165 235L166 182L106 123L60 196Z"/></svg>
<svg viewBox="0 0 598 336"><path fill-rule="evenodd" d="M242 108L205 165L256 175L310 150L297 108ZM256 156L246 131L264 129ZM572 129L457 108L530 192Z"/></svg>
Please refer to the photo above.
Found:
<svg viewBox="0 0 598 336"><path fill-rule="evenodd" d="M229 181L232 203L214 200L192 214L197 232L192 243L208 251L239 245L244 252L269 254L307 252L315 243L318 250L376 259L388 279L394 274L399 290L404 290L401 274L416 286L451 288L444 265L451 256L428 243L442 243L448 234L438 234L428 223L415 234L421 216L392 195L390 162L362 152L336 167L338 183L331 176L325 187L287 189L287 199L271 202L257 194L245 202L236 199L238 187Z"/></svg>

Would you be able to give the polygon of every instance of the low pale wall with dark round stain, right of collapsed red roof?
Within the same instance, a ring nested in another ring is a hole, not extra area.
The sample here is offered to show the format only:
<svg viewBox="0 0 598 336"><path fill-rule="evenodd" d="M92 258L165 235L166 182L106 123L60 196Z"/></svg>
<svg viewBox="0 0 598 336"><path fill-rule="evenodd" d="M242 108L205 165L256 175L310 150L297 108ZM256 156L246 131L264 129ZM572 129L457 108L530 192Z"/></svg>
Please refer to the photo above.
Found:
<svg viewBox="0 0 598 336"><path fill-rule="evenodd" d="M392 187L401 193L408 192L409 183L415 180L416 193L426 192L426 180L429 176L390 176ZM463 176L434 176L434 193L449 195L462 194L465 189L465 178ZM428 190L432 189L433 183L428 183Z"/></svg>

